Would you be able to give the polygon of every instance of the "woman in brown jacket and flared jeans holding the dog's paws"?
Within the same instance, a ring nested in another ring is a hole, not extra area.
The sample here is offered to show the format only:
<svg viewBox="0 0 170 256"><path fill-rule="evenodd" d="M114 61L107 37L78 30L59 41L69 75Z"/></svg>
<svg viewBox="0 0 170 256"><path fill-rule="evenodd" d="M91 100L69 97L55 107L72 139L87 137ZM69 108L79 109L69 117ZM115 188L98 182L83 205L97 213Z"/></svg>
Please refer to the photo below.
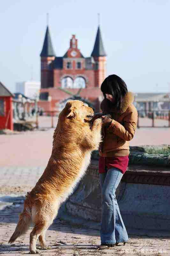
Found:
<svg viewBox="0 0 170 256"><path fill-rule="evenodd" d="M137 127L137 110L132 104L134 97L125 82L116 75L108 76L101 84L104 100L101 102L103 142L99 148L99 173L102 199L101 245L107 249L128 241L115 191L127 170L129 140ZM109 116L103 116L108 115Z"/></svg>

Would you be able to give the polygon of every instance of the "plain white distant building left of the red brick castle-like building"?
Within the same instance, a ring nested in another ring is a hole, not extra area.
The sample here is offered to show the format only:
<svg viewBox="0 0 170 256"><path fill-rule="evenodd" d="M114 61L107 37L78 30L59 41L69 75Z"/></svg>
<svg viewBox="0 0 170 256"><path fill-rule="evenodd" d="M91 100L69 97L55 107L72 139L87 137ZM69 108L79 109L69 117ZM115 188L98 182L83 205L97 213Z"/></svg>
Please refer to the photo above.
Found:
<svg viewBox="0 0 170 256"><path fill-rule="evenodd" d="M41 83L36 81L26 81L16 83L16 92L25 95L28 98L39 97Z"/></svg>

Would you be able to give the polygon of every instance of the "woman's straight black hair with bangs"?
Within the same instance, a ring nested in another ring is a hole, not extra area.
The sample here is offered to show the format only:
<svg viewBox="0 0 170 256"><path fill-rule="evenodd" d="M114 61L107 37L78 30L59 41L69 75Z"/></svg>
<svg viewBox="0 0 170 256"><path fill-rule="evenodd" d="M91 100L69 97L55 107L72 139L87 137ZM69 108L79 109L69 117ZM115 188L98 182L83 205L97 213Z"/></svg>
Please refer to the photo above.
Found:
<svg viewBox="0 0 170 256"><path fill-rule="evenodd" d="M111 94L114 98L114 103L108 100L109 107L116 107L120 109L122 106L122 99L128 93L127 86L125 82L116 75L110 75L105 78L103 83L101 84L101 91L103 92L103 96L106 99L106 93Z"/></svg>

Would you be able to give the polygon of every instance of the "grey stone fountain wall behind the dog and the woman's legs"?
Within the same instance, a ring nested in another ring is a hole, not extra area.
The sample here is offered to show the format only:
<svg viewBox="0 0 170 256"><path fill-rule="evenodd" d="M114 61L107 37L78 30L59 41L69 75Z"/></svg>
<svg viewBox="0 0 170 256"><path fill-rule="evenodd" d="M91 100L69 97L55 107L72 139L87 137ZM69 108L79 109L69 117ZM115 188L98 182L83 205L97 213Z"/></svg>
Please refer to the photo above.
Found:
<svg viewBox="0 0 170 256"><path fill-rule="evenodd" d="M143 159L141 154L147 154L140 152L141 157L139 157L137 152L139 151L131 149L130 159L136 162L137 159ZM141 164L143 160L138 164L130 163L117 188L116 198L120 212L124 224L129 230L169 232L170 158L169 155L164 155L163 166L163 164L151 164L151 162L154 163L151 154L149 154L149 164L146 161L146 155L144 157L145 164ZM162 161L162 154L160 159ZM155 157L155 161L158 163L158 155ZM65 204L65 212L73 218L100 223L100 198L98 153L94 152L86 175Z"/></svg>

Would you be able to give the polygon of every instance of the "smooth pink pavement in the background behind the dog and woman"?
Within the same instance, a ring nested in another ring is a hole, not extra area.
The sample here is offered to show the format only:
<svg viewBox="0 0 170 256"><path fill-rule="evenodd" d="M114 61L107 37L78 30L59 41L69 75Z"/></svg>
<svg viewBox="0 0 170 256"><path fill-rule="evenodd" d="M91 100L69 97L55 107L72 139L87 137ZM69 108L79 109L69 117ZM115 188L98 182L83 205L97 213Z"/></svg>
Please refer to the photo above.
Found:
<svg viewBox="0 0 170 256"><path fill-rule="evenodd" d="M162 121L162 120L160 120ZM44 121L44 124L45 121ZM47 125L47 124L46 124ZM52 150L54 128L0 135L0 166L44 166ZM170 128L139 128L131 146L170 144Z"/></svg>

